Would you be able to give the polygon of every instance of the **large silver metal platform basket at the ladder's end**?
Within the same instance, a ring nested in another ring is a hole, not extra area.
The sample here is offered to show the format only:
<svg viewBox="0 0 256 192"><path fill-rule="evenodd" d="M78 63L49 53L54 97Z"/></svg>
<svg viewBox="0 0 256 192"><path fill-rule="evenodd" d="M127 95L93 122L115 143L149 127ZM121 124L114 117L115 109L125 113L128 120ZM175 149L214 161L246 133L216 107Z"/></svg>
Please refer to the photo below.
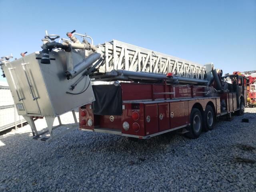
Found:
<svg viewBox="0 0 256 192"><path fill-rule="evenodd" d="M73 60L80 56L72 52ZM74 110L85 103L95 100L89 76L85 76L83 83L78 84L74 93L79 93L88 86L86 92L81 94L68 94L70 86L75 84L82 74L73 79L65 77L66 54L64 51L53 50L50 52L51 64L42 64L40 59L42 52L34 52L26 57L19 58L2 65L7 78L14 103L17 106L18 114L24 116L30 124L34 138L41 140L53 140L56 138L52 130L57 127L64 128L64 132L78 128L78 122ZM60 121L60 115L71 111L74 116L74 125L64 126ZM48 130L39 133L34 124L33 118L45 117ZM54 119L58 117L59 126L53 127ZM44 134L50 134L45 138ZM59 134L62 136L63 134Z"/></svg>

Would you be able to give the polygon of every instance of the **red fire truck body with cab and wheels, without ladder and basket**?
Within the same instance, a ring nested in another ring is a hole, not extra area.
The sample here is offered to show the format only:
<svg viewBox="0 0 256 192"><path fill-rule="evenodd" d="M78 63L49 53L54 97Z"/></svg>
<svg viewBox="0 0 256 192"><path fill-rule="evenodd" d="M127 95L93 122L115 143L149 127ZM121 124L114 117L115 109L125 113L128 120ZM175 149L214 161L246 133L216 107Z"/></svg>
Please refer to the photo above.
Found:
<svg viewBox="0 0 256 192"><path fill-rule="evenodd" d="M212 64L207 67L213 74L208 85L182 78L177 81L173 74L127 71L109 74L108 80L131 82L94 85L97 99L80 107L79 129L140 139L180 129L186 136L198 138L203 130L213 129L219 116L230 118L232 112L243 115L245 77L237 74L221 77ZM104 80L105 76L92 77Z"/></svg>

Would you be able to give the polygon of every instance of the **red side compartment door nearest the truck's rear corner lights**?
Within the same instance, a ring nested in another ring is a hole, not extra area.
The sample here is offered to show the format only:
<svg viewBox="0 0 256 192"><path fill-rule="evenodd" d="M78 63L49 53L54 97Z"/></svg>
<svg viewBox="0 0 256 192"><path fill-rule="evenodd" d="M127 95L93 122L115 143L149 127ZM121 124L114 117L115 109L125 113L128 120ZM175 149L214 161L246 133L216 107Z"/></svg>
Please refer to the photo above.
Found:
<svg viewBox="0 0 256 192"><path fill-rule="evenodd" d="M158 131L157 104L145 104L145 131L151 135Z"/></svg>

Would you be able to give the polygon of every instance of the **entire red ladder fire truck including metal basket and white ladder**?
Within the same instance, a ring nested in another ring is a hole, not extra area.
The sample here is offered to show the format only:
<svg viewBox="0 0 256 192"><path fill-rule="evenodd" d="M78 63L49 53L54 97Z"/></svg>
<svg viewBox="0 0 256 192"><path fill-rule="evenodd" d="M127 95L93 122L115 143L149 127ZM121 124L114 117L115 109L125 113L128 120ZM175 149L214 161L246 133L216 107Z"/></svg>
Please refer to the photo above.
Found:
<svg viewBox="0 0 256 192"><path fill-rule="evenodd" d="M118 40L95 46L92 37L75 30L66 35L57 42L60 36L46 31L42 51L1 59L18 112L36 140L50 142L77 128L139 139L178 130L198 138L220 116L244 114L244 76L222 76L213 63ZM64 125L60 116L69 111L74 124ZM36 129L35 117L45 118L47 130ZM56 117L59 125L53 126ZM55 134L56 128L64 131Z"/></svg>

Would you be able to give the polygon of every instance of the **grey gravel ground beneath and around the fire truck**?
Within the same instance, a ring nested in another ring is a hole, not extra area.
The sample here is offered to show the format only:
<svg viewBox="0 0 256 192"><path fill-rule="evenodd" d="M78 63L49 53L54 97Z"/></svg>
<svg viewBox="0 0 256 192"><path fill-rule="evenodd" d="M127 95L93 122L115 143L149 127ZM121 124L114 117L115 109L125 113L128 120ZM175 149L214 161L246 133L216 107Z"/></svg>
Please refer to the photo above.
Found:
<svg viewBox="0 0 256 192"><path fill-rule="evenodd" d="M256 108L245 112L196 140L164 134L136 142L75 130L47 144L27 125L0 136L0 192L256 191Z"/></svg>

